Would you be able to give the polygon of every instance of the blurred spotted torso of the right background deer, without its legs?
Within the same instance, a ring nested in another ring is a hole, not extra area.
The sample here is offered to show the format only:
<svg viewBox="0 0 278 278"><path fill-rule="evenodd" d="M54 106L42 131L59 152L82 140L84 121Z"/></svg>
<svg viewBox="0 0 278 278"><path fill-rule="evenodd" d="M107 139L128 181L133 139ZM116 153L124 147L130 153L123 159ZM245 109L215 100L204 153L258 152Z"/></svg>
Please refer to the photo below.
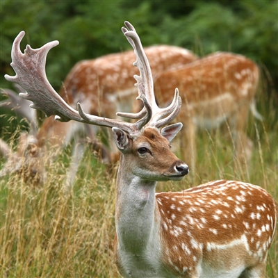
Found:
<svg viewBox="0 0 278 278"><path fill-rule="evenodd" d="M218 52L158 74L154 85L161 105L169 103L173 88L179 88L184 103L181 118L188 111L193 117L217 117L235 111L240 104L251 104L258 82L259 68L254 62L238 54Z"/></svg>

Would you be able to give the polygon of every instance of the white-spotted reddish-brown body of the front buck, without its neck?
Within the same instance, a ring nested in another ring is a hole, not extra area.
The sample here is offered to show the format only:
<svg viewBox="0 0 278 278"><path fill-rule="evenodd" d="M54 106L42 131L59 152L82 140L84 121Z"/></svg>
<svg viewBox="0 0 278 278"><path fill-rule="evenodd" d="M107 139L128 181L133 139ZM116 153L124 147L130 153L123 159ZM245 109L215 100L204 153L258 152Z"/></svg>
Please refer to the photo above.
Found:
<svg viewBox="0 0 278 278"><path fill-rule="evenodd" d="M263 188L212 181L177 193L156 193L156 201L162 259L177 277L199 277L198 269L206 267L219 272L265 263L277 209Z"/></svg>

